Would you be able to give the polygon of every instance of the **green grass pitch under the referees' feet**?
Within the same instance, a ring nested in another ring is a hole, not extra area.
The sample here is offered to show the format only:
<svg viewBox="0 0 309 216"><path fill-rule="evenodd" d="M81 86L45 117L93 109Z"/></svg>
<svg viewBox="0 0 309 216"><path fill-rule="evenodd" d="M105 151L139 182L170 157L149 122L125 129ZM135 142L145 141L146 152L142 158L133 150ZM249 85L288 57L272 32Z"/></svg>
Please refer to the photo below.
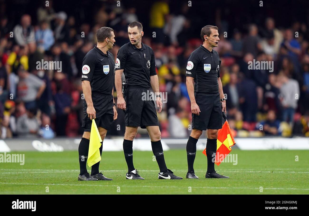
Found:
<svg viewBox="0 0 309 216"><path fill-rule="evenodd" d="M205 179L207 161L202 151L197 151L194 163L199 179L185 179L186 151L165 151L167 167L184 179L163 180L158 179L153 153L134 151L134 166L145 180L128 180L123 152L103 152L100 171L114 180L85 182L77 181L77 151L25 152L24 165L0 163L0 194L309 194L308 150L233 149L231 153L238 155L237 165L215 165L219 174L230 179Z"/></svg>

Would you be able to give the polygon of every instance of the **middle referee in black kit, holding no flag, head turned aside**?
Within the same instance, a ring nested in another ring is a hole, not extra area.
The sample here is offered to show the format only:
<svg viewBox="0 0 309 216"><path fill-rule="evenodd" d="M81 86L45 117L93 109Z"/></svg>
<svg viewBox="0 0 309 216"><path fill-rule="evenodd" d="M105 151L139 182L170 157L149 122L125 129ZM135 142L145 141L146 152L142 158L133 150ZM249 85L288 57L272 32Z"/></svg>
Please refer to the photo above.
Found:
<svg viewBox="0 0 309 216"><path fill-rule="evenodd" d="M155 70L155 55L150 46L142 43L143 27L139 22L132 22L128 26L130 42L123 45L117 53L115 63L115 86L117 91L117 107L125 110L125 137L123 151L128 165L126 179L144 179L133 166L133 139L137 129L147 128L151 140L152 151L158 162L159 179L182 179L167 169L161 144L161 132L155 104L153 100L143 100L142 95L150 95L150 84L155 92L155 102L162 110L161 95L159 93L158 75ZM122 95L121 75L124 72L127 88Z"/></svg>

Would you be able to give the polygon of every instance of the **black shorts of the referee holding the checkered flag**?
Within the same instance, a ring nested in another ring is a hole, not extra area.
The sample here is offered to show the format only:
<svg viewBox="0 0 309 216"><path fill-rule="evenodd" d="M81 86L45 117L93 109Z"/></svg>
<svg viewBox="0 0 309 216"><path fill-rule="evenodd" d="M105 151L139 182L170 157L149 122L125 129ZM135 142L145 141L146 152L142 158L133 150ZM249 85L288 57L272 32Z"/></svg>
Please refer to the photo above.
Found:
<svg viewBox="0 0 309 216"><path fill-rule="evenodd" d="M195 93L194 95L201 112L200 115L192 113L192 128L201 131L222 128L220 94Z"/></svg>

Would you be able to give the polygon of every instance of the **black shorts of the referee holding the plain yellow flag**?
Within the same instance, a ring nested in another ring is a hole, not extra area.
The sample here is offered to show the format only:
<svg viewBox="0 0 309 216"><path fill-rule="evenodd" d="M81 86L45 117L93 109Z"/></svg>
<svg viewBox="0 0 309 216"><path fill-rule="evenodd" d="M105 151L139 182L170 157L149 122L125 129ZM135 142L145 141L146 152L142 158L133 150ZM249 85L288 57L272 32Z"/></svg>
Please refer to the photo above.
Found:
<svg viewBox="0 0 309 216"><path fill-rule="evenodd" d="M113 96L112 94L92 93L92 102L95 108L95 123L97 127L103 127L106 130L111 129L114 120L113 110ZM85 117L83 119L82 127L85 132L91 131L92 120L88 118L86 100L83 101L83 109Z"/></svg>

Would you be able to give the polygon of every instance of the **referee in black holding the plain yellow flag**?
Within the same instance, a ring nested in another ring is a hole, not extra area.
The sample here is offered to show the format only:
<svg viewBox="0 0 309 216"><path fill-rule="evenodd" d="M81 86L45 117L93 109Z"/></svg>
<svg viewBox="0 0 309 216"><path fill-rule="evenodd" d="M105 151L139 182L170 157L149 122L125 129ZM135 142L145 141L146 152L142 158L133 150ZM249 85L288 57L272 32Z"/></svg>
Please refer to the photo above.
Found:
<svg viewBox="0 0 309 216"><path fill-rule="evenodd" d="M84 57L82 68L82 88L85 97L83 101L85 118L82 127L85 132L78 147L79 181L112 180L99 173L100 162L91 166L91 175L86 167L92 119L95 119L102 140L111 128L112 121L117 119L113 97L115 59L108 52L115 43L114 30L102 27L96 30L95 35L98 43ZM100 147L101 155L102 148L103 145Z"/></svg>

